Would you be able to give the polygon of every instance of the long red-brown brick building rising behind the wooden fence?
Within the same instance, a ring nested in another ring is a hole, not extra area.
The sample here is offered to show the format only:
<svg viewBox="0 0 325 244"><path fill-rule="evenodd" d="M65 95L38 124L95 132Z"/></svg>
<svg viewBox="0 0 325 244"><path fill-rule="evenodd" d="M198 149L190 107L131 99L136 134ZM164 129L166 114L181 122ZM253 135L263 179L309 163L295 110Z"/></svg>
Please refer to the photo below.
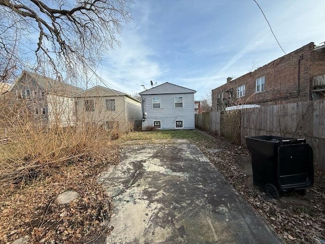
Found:
<svg viewBox="0 0 325 244"><path fill-rule="evenodd" d="M309 43L271 63L212 90L212 109L323 99L325 45Z"/></svg>

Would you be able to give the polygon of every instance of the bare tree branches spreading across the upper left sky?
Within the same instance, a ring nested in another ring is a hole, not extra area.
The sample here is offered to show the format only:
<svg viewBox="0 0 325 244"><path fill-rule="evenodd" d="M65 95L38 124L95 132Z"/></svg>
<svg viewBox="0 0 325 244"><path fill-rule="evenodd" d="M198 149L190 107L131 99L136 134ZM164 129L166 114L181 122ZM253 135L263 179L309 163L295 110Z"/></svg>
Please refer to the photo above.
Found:
<svg viewBox="0 0 325 244"><path fill-rule="evenodd" d="M22 53L30 58L24 43L37 34L38 41L30 49L39 64L46 57L55 70L60 62L67 67L70 62L94 66L105 52L119 45L116 35L122 23L131 20L132 1L0 0L0 48L14 52L16 61L24 58ZM20 39L15 39L15 33ZM12 48L15 42L19 48ZM0 54L0 60L8 63L9 56ZM0 76L8 71L5 63L0 64Z"/></svg>

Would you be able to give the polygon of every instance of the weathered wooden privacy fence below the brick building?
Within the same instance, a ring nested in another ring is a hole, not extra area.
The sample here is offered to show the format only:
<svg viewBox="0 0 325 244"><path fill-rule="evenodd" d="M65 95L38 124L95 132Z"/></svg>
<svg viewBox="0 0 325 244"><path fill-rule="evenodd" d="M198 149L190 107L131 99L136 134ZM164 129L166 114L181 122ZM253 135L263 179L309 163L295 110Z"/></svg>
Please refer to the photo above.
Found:
<svg viewBox="0 0 325 244"><path fill-rule="evenodd" d="M210 120L212 133L238 144L246 143L245 136L305 138L325 170L325 100L211 112Z"/></svg>

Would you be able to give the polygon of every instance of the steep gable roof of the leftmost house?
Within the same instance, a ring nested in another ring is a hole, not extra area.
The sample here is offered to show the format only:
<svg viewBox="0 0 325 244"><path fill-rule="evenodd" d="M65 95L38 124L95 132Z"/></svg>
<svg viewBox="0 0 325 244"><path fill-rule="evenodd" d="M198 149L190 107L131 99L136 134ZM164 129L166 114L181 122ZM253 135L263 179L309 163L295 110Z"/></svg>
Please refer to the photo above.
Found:
<svg viewBox="0 0 325 244"><path fill-rule="evenodd" d="M54 80L50 77L32 73L26 70L24 70L22 74L15 80L14 84L19 82L23 76L26 76L26 79L34 80L42 89L46 90L48 93L71 97L83 90L80 87L70 85L59 80ZM12 85L12 88L13 87L14 85Z"/></svg>

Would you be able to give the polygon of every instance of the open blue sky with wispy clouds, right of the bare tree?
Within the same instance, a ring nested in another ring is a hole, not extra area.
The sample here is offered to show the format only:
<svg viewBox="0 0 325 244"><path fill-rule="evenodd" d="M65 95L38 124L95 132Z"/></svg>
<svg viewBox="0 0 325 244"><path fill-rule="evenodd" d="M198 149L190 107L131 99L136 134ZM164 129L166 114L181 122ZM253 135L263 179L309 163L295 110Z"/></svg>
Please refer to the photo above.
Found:
<svg viewBox="0 0 325 244"><path fill-rule="evenodd" d="M256 0L286 53L325 41L324 0ZM96 70L129 95L170 82L196 100L285 53L253 0L136 0L120 48Z"/></svg>

